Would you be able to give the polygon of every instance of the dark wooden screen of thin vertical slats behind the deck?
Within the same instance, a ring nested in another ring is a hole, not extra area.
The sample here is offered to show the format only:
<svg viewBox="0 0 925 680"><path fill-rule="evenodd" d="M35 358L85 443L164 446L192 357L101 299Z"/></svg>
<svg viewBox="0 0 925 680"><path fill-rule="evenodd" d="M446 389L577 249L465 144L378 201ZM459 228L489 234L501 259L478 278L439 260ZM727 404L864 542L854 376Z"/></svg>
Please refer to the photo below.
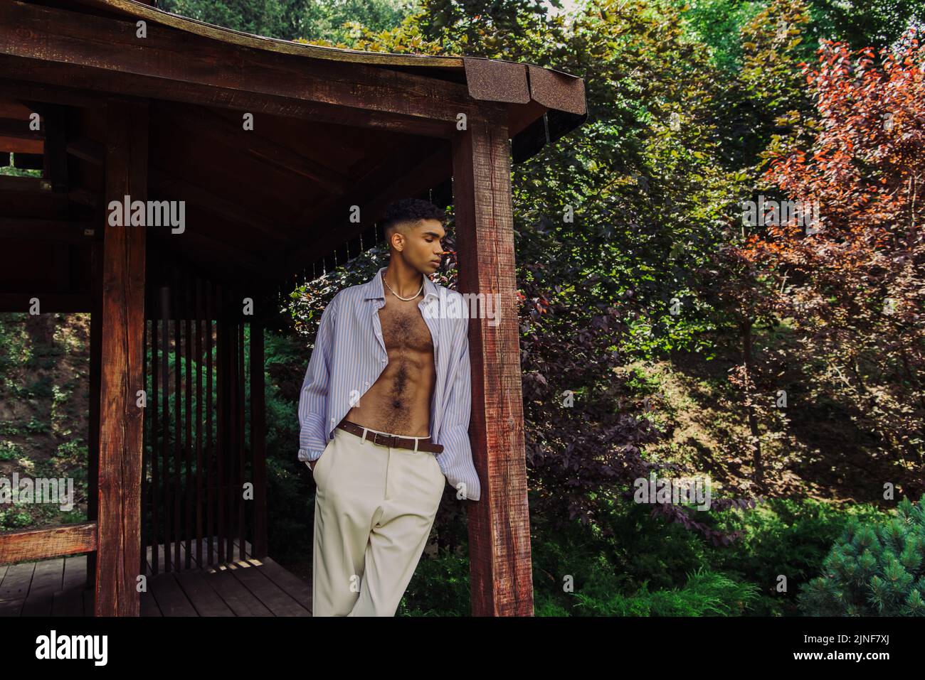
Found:
<svg viewBox="0 0 925 680"><path fill-rule="evenodd" d="M265 527L266 521L265 488L263 486L265 469L258 470L259 465L262 465L264 461L257 463L255 450L258 444L253 441L254 436L263 437L264 429L264 425L260 424L257 426L256 435L254 434L253 419L259 418L263 422L265 409L262 333L258 340L261 343L258 350L260 353L257 359L258 364L254 366L253 358L248 358L248 347L245 345L248 334L245 334L242 325L232 322L238 311L235 302L238 294L227 286L218 290L219 286L212 284L211 281L200 279L174 266L169 266L167 279L170 282L170 285L164 286L167 309L157 310L159 305L151 303L154 309L151 311L153 319L151 340L148 343L152 350L150 359L152 394L149 395L149 401L154 409L150 414L150 445L152 446L151 453L158 453L158 455L151 456L152 482L147 490L152 499L156 499L152 501L150 513L152 557L154 558L154 546L158 551L163 547L166 552L165 561L161 563L163 566L158 564L159 560L155 561L153 570L191 568L192 551L187 553L189 558L186 562L181 562L177 553L179 542L183 540L191 543L192 536L204 540L217 537L221 541L217 561L233 561L236 559L235 541L237 540L239 545L247 542L253 545L253 538L256 535L253 534L253 527L261 525ZM213 286L216 287L214 297L217 302L215 305L211 299ZM152 296L152 300L154 299L157 297ZM213 311L214 306L220 310L220 313ZM213 315L218 317L216 319L217 337L213 335L211 320ZM172 331L170 321L173 322ZM205 334L204 340L203 334ZM213 344L218 352L216 360L213 360L212 356ZM171 346L175 358L173 381L169 380L168 357ZM159 365L158 362L160 362ZM184 370L184 364L186 365L185 374L181 372ZM154 370L154 367L157 367L157 370ZM193 371L195 371L195 377L193 377ZM260 384L261 394L255 397L256 402L252 403L250 413L247 413L246 396L249 394L248 388L253 389L249 381ZM174 395L173 413L170 413L171 391ZM216 411L213 404L216 396L214 392L218 398L217 432L213 424L213 413ZM194 402L195 407L193 407ZM205 409L204 414L203 408ZM255 416L255 413L260 415ZM252 418L250 446L247 445L248 436L245 427L247 424L245 418L248 415ZM192 424L193 419L196 421L195 426ZM172 454L169 443L171 426L174 433ZM159 440L159 436L163 436L163 439ZM195 445L194 465L193 445ZM259 444L259 448L263 451L263 444ZM185 473L181 469L184 452L186 455ZM263 455L263 453L260 454L261 457ZM250 470L248 468L249 459ZM159 467L161 463L163 463L163 469ZM259 479L253 479L258 475ZM255 503L250 509L242 498L245 480L254 483L253 500ZM217 495L215 495L216 492ZM163 500L160 498L162 493ZM184 497L185 502L182 500ZM158 505L163 510L155 509ZM216 510L220 516L220 527L217 531L215 530ZM258 512L262 515L261 519L257 518ZM162 522L165 534L163 540L158 536L158 531L162 528L158 525ZM149 527L146 526L145 530L148 529ZM248 540L249 533L252 534L250 537L252 540ZM263 535L265 537L265 529ZM263 540L265 542L265 538ZM197 554L197 564L216 563L213 553L215 548L212 543L213 541L210 540L209 554L205 555L206 562L202 561L203 555ZM201 543L197 541L197 545ZM172 551L171 546L173 546ZM202 548L199 550L204 552ZM239 551L237 559L245 557L246 555Z"/></svg>

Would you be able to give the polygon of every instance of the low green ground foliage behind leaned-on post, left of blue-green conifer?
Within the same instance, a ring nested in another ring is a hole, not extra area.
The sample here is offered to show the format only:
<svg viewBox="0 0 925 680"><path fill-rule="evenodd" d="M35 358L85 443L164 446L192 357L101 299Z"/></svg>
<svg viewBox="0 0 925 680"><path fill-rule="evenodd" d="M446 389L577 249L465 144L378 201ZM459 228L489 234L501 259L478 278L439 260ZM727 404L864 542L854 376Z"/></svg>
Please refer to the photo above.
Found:
<svg viewBox="0 0 925 680"><path fill-rule="evenodd" d="M882 517L867 505L771 499L757 508L717 514L717 526L745 537L714 548L648 508L614 504L601 518L609 531L573 522L533 524L537 616L798 615L796 591L819 574L849 518ZM470 612L468 558L441 550L422 559L400 607L403 615ZM778 592L778 576L788 580ZM571 589L570 589L571 585Z"/></svg>

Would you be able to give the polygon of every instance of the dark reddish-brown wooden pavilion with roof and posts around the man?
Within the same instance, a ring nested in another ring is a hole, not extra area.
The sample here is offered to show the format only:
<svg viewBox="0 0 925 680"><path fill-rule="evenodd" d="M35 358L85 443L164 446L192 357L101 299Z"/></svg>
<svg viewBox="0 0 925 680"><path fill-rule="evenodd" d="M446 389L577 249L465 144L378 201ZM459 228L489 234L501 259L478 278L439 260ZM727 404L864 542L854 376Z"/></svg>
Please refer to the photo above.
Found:
<svg viewBox="0 0 925 680"><path fill-rule="evenodd" d="M452 202L461 292L502 300L499 325L470 323L473 613L532 614L511 163L585 120L584 82L273 40L153 4L0 0L0 163L43 170L0 176L0 311L91 312L92 486L90 521L0 534L0 573L86 554L93 613L129 616L140 574L245 547L268 559L266 311L375 245L388 202L415 196ZM114 224L124 200L183 201L183 225L158 208ZM204 381L183 375L190 358Z"/></svg>

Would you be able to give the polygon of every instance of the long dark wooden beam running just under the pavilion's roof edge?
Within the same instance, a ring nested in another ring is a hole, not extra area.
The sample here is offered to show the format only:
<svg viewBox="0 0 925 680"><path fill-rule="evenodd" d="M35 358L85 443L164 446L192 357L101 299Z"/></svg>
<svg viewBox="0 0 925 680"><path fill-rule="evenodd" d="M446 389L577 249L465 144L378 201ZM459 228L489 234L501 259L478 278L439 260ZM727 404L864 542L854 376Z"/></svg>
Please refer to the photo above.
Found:
<svg viewBox="0 0 925 680"><path fill-rule="evenodd" d="M27 63L4 75L45 82L76 76L77 84L90 90L177 101L184 101L185 93L198 95L199 103L215 103L216 95L222 99L234 92L244 110L257 102L241 101L247 94L274 96L314 103L319 115L339 117L344 125L416 131L428 121L437 122L431 131L440 136L454 129L458 114L474 117L477 112L475 100L460 83L250 50L161 26L150 29L139 39L132 21L7 0L0 4L0 54ZM182 59L176 58L179 50ZM11 66L6 62L0 72ZM376 122L371 120L374 115Z"/></svg>

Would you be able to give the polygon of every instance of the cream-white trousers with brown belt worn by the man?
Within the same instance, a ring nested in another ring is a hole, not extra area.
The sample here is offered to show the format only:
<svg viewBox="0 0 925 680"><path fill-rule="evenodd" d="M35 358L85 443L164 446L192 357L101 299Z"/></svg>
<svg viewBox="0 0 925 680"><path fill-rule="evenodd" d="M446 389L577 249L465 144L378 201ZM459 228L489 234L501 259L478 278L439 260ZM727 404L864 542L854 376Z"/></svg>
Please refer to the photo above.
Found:
<svg viewBox="0 0 925 680"><path fill-rule="evenodd" d="M338 428L313 476L312 615L394 616L443 496L437 459Z"/></svg>

